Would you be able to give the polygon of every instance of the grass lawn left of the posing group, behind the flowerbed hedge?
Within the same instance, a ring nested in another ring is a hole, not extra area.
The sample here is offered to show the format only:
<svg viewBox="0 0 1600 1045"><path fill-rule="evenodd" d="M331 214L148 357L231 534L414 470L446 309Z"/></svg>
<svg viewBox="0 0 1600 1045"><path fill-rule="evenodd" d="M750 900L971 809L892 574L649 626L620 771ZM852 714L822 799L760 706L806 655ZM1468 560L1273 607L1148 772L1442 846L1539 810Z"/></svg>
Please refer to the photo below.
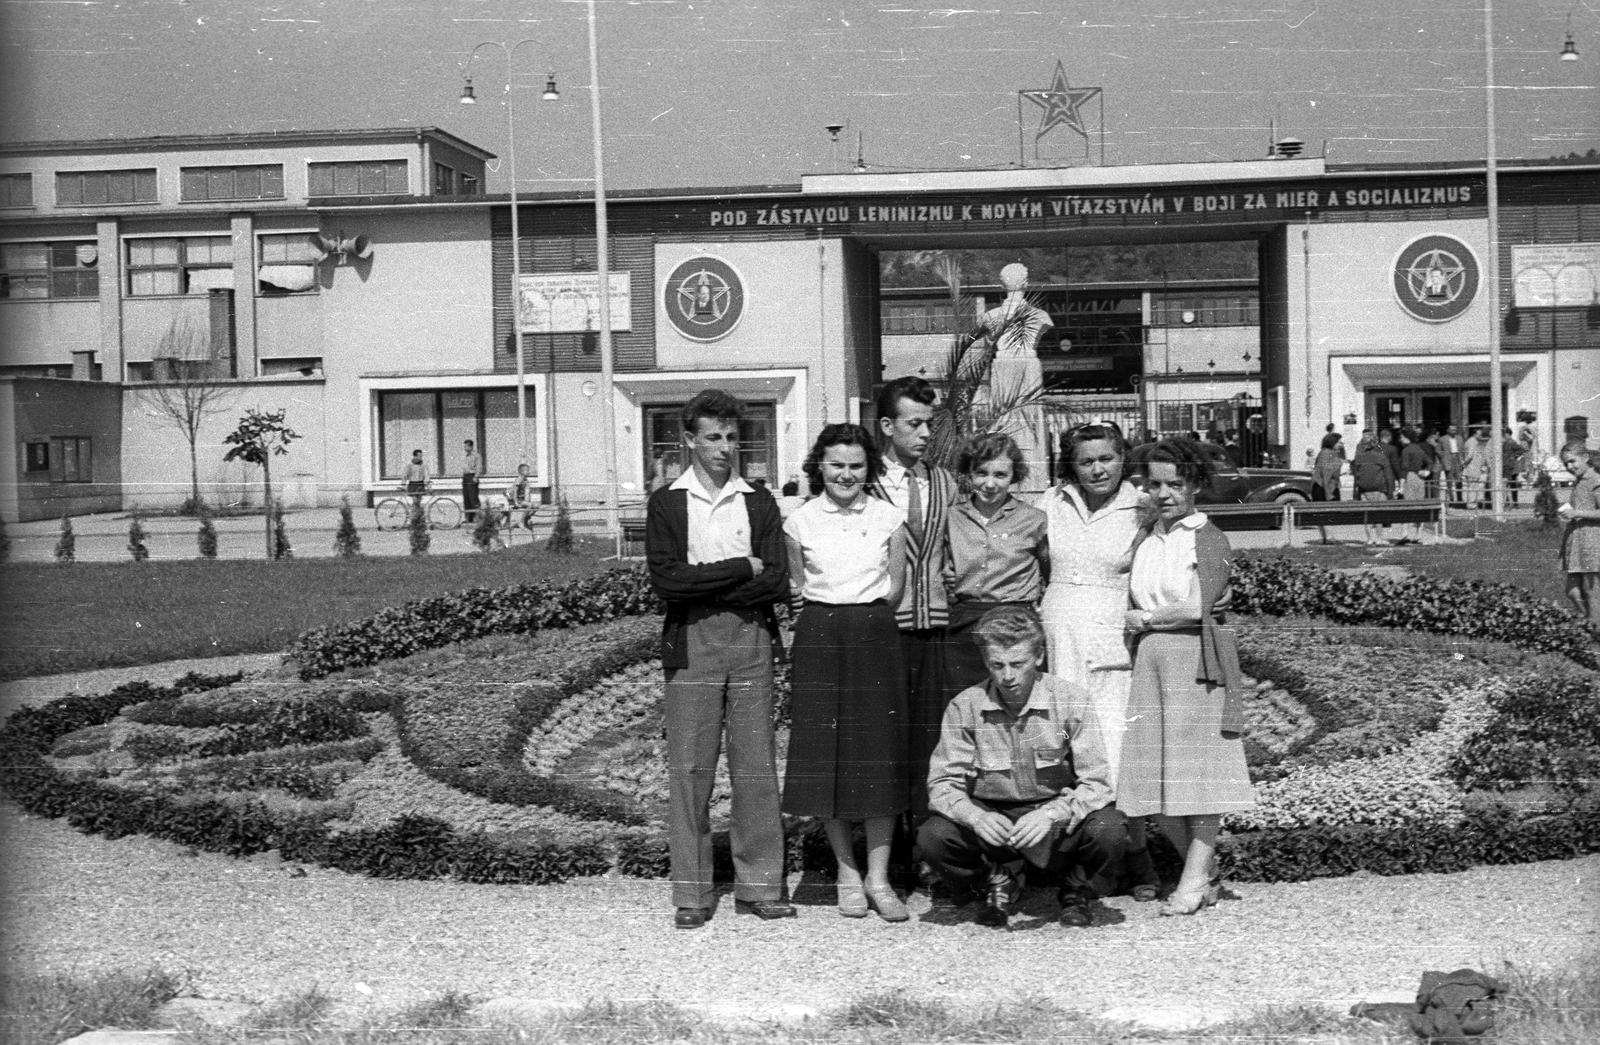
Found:
<svg viewBox="0 0 1600 1045"><path fill-rule="evenodd" d="M270 653L309 627L464 587L568 581L610 544L491 555L0 565L0 680Z"/></svg>

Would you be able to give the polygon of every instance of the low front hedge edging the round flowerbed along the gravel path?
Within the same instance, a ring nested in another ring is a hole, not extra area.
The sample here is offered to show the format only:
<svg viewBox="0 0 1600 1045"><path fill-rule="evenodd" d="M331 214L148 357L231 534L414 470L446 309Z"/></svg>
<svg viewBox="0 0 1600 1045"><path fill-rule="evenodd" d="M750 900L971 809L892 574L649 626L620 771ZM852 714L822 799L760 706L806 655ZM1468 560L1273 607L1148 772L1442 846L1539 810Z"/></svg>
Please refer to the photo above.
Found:
<svg viewBox="0 0 1600 1045"><path fill-rule="evenodd" d="M123 687L101 698L62 698L0 731L0 784L29 813L64 816L106 837L147 834L195 848L248 856L278 850L285 859L373 877L454 877L464 882L547 883L594 875L613 866L661 877L667 855L659 832L619 831L595 840L499 840L451 829L422 816L381 829L334 834L315 818L274 813L259 802L182 802L133 794L99 781L72 781L53 770L42 746L74 728L98 725L152 687ZM128 693L128 690L133 690ZM22 712L18 712L19 715ZM1459 824L1392 827L1304 827L1227 835L1221 855L1240 882L1298 882L1346 875L1461 871L1475 864L1565 859L1600 851L1600 802L1587 799L1555 816L1515 819L1490 813ZM816 824L790 832L792 869L826 871Z"/></svg>

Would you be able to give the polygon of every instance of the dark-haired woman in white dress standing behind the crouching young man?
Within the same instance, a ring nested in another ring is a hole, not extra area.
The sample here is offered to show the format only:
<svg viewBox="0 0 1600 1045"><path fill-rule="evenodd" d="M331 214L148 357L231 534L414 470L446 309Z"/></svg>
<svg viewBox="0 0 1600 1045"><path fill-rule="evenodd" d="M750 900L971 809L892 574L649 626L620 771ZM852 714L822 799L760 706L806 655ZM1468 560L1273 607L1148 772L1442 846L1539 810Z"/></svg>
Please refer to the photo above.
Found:
<svg viewBox="0 0 1600 1045"><path fill-rule="evenodd" d="M1128 443L1115 424L1069 429L1061 435L1061 459L1066 482L1038 498L1050 522L1050 584L1038 615L1050 674L1083 687L1093 699L1115 789L1133 677L1123 618L1141 494L1123 478ZM1144 824L1130 821L1128 837L1133 898L1155 899L1160 882L1144 848Z"/></svg>

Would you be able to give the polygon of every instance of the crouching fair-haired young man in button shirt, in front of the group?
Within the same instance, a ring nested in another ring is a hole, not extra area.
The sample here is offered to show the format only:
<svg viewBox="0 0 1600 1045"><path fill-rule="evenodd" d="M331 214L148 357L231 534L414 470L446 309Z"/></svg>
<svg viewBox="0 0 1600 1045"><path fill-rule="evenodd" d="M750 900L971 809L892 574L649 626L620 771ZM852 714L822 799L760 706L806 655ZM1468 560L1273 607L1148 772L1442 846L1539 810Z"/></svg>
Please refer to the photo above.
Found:
<svg viewBox="0 0 1600 1045"><path fill-rule="evenodd" d="M1024 864L1064 872L1061 923L1091 923L1117 887L1126 819L1110 807L1106 749L1088 695L1040 672L1045 627L1026 607L986 613L974 634L989 682L944 712L928 763L922 855L957 906L982 899L982 925L1005 927Z"/></svg>

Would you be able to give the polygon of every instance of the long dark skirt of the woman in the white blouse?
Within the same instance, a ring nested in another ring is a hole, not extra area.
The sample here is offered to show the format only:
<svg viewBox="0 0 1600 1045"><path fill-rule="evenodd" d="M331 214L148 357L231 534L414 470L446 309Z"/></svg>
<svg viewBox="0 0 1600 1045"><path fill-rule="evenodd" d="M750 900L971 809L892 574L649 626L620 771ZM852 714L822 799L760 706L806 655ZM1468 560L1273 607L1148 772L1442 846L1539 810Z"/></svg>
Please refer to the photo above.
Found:
<svg viewBox="0 0 1600 1045"><path fill-rule="evenodd" d="M910 805L906 671L894 610L806 603L795 621L784 813L894 816Z"/></svg>

